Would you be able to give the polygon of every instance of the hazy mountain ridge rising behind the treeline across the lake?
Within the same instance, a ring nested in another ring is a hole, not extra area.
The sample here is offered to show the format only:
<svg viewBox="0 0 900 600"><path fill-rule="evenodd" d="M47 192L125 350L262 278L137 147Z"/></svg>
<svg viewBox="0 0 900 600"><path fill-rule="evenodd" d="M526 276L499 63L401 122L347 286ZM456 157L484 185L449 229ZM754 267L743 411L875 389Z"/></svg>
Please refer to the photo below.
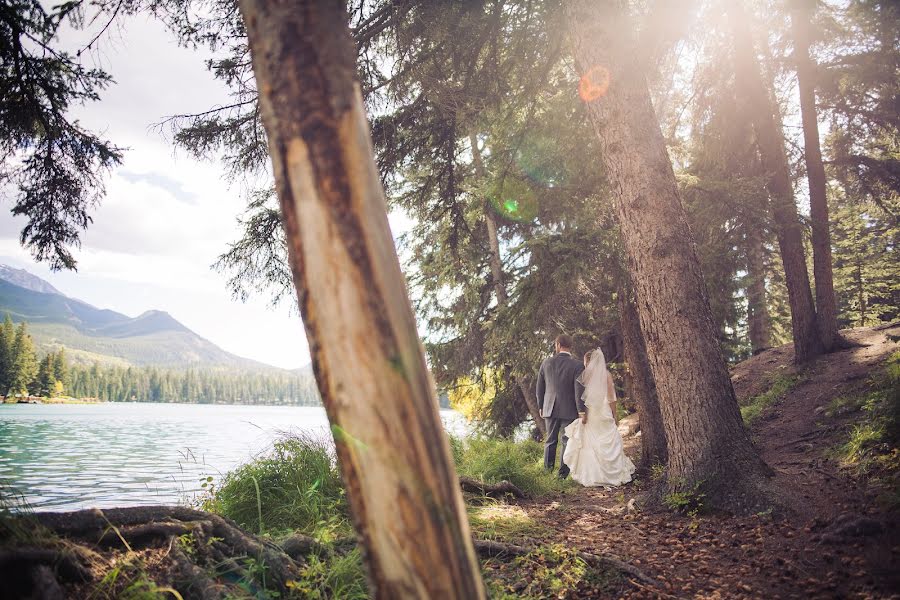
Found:
<svg viewBox="0 0 900 600"><path fill-rule="evenodd" d="M77 362L280 370L226 352L169 313L149 310L129 317L97 308L25 270L0 265L0 314L4 312L15 322L27 321L39 346L65 346Z"/></svg>

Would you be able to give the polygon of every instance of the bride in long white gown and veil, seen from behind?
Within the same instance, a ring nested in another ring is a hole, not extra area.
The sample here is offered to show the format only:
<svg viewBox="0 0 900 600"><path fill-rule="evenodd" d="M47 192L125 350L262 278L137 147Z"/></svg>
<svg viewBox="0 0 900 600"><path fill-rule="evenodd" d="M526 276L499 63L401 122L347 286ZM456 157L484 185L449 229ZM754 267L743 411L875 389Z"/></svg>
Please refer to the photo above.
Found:
<svg viewBox="0 0 900 600"><path fill-rule="evenodd" d="M634 463L622 449L622 436L613 416L616 389L598 348L584 355L581 375L584 404L580 419L566 427L569 443L563 455L572 479L584 486L616 486L631 481Z"/></svg>

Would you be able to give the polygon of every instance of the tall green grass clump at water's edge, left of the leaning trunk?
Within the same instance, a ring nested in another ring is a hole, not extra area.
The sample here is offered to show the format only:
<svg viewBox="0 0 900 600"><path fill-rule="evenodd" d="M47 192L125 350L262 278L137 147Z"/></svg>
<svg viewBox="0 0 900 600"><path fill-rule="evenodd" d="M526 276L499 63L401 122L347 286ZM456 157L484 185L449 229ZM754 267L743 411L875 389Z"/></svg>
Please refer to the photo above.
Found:
<svg viewBox="0 0 900 600"><path fill-rule="evenodd" d="M327 441L289 436L226 474L204 509L260 533L300 530L328 540L349 531L344 487Z"/></svg>

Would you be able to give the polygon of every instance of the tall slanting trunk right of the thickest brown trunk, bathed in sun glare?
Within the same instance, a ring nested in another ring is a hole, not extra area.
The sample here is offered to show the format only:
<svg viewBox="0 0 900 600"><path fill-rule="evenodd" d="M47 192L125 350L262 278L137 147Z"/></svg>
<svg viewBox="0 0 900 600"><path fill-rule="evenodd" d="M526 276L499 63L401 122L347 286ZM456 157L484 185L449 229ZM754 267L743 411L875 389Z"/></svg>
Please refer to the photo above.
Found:
<svg viewBox="0 0 900 600"><path fill-rule="evenodd" d="M768 181L775 234L784 265L784 279L791 305L791 328L794 356L806 362L822 353L822 342L816 324L816 309L809 286L806 257L803 251L803 228L794 203L790 168L784 150L784 136L776 120L778 113L763 81L747 15L740 0L726 3L734 33L735 77L738 98L744 113L753 124L762 168Z"/></svg>

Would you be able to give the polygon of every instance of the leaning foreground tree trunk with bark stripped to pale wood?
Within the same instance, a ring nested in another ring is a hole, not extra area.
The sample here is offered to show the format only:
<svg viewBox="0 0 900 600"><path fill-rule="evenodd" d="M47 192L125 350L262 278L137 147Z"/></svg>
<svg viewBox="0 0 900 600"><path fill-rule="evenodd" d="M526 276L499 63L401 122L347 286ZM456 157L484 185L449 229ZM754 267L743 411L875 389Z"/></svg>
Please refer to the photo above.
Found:
<svg viewBox="0 0 900 600"><path fill-rule="evenodd" d="M240 0L313 369L372 591L483 598L343 4Z"/></svg>

